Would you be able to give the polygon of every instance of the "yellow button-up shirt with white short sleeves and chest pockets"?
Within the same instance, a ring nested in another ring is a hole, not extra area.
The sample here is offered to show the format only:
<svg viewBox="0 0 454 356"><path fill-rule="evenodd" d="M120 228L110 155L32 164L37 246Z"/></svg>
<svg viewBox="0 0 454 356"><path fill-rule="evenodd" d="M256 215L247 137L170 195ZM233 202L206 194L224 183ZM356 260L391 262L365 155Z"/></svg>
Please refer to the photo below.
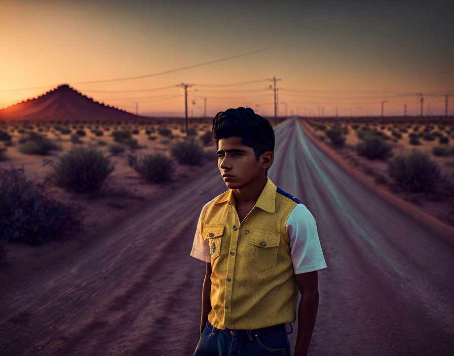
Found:
<svg viewBox="0 0 454 356"><path fill-rule="evenodd" d="M292 252L295 241L289 238L288 218L297 210L305 215L295 215L290 228L295 236L304 233L305 240L300 238L300 247ZM303 225L299 230L298 224ZM191 256L211 262L208 320L218 329L257 329L294 322L298 295L295 271L326 268L312 214L298 199L276 187L270 177L241 224L231 189L205 204ZM297 268L292 256L298 261Z"/></svg>

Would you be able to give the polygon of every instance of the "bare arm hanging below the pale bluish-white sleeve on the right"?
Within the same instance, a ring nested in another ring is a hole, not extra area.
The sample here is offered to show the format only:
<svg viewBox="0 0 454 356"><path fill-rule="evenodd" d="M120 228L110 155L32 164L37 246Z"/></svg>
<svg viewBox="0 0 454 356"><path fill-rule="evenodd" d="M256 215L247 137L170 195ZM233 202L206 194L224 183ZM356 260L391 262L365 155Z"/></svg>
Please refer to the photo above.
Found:
<svg viewBox="0 0 454 356"><path fill-rule="evenodd" d="M301 300L298 308L298 335L296 336L293 356L306 356L317 317L318 277L317 271L299 273L295 276L301 292Z"/></svg>

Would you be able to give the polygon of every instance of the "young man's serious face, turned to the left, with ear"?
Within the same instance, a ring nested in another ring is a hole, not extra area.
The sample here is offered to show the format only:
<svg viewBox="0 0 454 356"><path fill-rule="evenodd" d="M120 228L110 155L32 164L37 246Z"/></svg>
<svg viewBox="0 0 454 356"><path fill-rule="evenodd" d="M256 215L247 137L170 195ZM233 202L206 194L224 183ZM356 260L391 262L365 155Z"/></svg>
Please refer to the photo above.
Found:
<svg viewBox="0 0 454 356"><path fill-rule="evenodd" d="M221 173L230 174L222 179L229 189L238 189L264 175L266 168L273 163L273 153L266 151L255 160L254 149L241 143L241 137L220 139L217 166Z"/></svg>

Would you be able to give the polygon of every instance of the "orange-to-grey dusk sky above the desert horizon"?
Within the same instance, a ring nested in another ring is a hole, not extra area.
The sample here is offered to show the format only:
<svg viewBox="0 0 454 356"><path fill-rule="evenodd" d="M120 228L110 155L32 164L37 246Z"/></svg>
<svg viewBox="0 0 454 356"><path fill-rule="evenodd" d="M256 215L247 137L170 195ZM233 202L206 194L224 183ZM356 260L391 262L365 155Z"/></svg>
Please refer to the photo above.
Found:
<svg viewBox="0 0 454 356"><path fill-rule="evenodd" d="M380 115L383 100L385 115L404 104L417 115L416 93L424 115L444 115L445 95L454 115L453 14L452 0L0 0L0 108L68 83L127 111L182 116L176 85L191 83L190 115L206 98L207 116L268 116L276 76L281 115Z"/></svg>

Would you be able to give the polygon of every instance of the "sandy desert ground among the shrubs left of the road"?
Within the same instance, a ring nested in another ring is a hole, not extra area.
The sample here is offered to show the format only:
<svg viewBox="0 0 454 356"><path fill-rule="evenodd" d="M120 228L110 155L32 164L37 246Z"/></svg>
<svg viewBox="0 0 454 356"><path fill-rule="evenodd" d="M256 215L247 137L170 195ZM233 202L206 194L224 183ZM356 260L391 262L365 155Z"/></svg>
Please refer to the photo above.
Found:
<svg viewBox="0 0 454 356"><path fill-rule="evenodd" d="M133 125L124 127L130 129L136 128ZM156 125L156 127L170 128L172 134L175 136L173 140L184 136L180 132L180 128L183 126L162 124ZM200 124L199 132L206 131L207 127L208 125ZM92 125L92 128L94 128L94 125ZM119 127L119 129L121 128ZM112 225L118 224L125 218L134 216L134 214L145 206L184 186L188 181L202 174L202 172L211 168L217 162L215 155L216 145L212 141L204 148L204 151L207 155L212 154L214 163L210 159L204 159L197 166L175 163L175 173L173 175L175 181L173 183L150 184L146 183L128 165L128 156L133 155L137 157L142 153L156 152L170 156L169 147L166 142L172 142L172 140L158 135L157 132L151 134L157 137L156 140L148 140L148 135L145 134L144 129L141 129L139 135L132 135L132 137L137 139L138 145L142 146L142 149L131 151L126 148L125 152L112 155L108 151L108 145L115 142L110 135L111 131L105 131L104 136L97 137L87 129L87 125L85 126L85 130L87 136L81 138L82 143L80 145L94 145L97 147L110 159L111 164L115 166L115 170L107 177L101 192L95 197L91 197L89 194L73 194L66 192L62 188L47 184L46 192L50 197L65 204L71 201L73 204L82 204L85 207L84 214L86 216L84 218L83 229L80 233L68 234L62 240L49 241L41 246L31 246L21 242L8 242L6 245L7 255L0 268L0 274L3 273L5 278L17 279L30 271L32 272L37 269L47 270L48 265L85 246L92 239L96 239L98 234L109 229ZM54 130L51 129L46 132L46 136L61 145L60 151L50 151L50 154L45 156L27 155L20 153L17 150L16 144L15 146L8 147L8 151L5 154L7 159L0 161L0 168L10 169L11 166L15 168L23 167L27 179L34 180L37 183L43 183L50 171L49 162L58 161L58 156L73 146L69 140L69 135L58 135L58 131L52 131ZM21 136L19 133L13 134L13 141L17 142ZM96 145L99 140L104 141L106 145ZM23 263L24 260L27 263Z"/></svg>

